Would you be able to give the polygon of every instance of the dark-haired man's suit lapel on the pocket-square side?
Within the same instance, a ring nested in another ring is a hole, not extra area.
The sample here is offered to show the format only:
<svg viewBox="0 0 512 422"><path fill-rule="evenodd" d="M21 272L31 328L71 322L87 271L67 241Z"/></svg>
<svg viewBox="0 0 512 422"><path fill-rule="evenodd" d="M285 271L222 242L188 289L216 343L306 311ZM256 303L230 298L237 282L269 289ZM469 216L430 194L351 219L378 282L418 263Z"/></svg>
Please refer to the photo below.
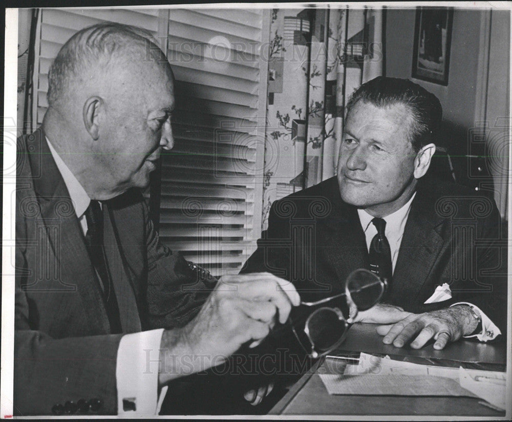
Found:
<svg viewBox="0 0 512 422"><path fill-rule="evenodd" d="M442 250L442 223L433 192L418 185L393 273L393 303L415 302Z"/></svg>

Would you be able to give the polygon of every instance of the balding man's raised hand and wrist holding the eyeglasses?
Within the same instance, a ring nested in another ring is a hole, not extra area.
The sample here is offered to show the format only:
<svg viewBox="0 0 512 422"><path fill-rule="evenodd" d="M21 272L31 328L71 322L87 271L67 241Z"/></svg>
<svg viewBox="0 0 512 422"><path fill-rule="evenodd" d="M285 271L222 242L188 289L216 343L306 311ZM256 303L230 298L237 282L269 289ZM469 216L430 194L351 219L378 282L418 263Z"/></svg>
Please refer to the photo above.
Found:
<svg viewBox="0 0 512 422"><path fill-rule="evenodd" d="M196 318L164 331L159 382L220 365L244 343L257 346L300 303L290 282L268 273L221 277Z"/></svg>

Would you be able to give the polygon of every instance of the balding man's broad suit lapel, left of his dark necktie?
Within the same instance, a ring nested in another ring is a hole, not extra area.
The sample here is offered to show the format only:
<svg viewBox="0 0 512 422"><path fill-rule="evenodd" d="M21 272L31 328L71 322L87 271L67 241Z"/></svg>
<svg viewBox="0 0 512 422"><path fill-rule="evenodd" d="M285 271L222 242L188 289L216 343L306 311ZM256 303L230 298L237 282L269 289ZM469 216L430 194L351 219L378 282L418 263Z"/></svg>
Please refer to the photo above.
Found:
<svg viewBox="0 0 512 422"><path fill-rule="evenodd" d="M40 206L41 225L45 228L48 253L54 259L47 262L56 262L58 265L59 290L78 292L89 326L100 327L103 332L109 332L102 293L94 276L68 189L53 160L42 129L38 129L37 136L40 139L40 150L30 155L33 174L44 175L34 178L34 191ZM74 299L74 296L62 297L63 300L70 298Z"/></svg>

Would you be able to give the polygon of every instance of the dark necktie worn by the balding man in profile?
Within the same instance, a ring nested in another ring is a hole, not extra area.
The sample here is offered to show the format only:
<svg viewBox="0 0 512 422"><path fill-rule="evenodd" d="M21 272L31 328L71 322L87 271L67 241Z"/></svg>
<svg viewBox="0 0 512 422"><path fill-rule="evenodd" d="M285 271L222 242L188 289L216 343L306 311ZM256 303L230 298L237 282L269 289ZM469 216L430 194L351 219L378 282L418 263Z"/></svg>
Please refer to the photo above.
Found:
<svg viewBox="0 0 512 422"><path fill-rule="evenodd" d="M91 201L89 204L86 210L86 220L87 249L103 287L105 308L109 317L111 332L112 334L118 334L121 332L119 307L117 305L114 284L106 264L105 248L103 245L103 213L98 201Z"/></svg>

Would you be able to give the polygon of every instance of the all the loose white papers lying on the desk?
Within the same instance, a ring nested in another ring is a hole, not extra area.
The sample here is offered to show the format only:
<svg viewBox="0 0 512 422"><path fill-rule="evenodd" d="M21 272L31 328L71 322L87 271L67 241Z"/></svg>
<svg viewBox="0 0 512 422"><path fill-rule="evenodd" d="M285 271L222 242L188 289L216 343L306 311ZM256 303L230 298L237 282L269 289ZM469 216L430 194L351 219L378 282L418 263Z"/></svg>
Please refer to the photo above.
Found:
<svg viewBox="0 0 512 422"><path fill-rule="evenodd" d="M386 376L380 376L386 375ZM480 397L505 410L505 372L394 361L361 353L343 374L319 374L329 394Z"/></svg>

